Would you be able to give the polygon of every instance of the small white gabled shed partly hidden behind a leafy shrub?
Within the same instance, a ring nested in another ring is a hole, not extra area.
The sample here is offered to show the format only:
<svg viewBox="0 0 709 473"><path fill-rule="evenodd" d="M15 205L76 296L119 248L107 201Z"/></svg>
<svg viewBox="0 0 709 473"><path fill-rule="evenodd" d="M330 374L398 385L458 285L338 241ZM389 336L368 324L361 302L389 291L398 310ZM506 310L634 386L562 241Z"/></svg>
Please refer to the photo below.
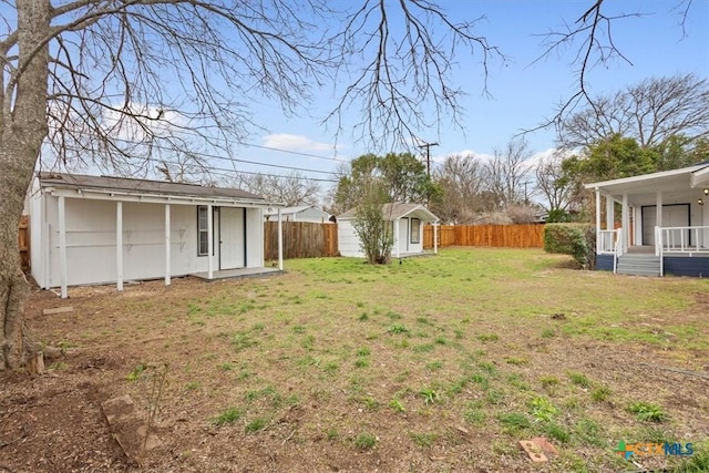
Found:
<svg viewBox="0 0 709 473"><path fill-rule="evenodd" d="M392 225L393 246L391 256L399 258L423 254L423 225L435 224L439 218L420 204L392 203L382 207L384 220ZM337 217L338 248L341 256L362 258L361 241L354 232L356 209ZM435 237L433 238L435 241Z"/></svg>

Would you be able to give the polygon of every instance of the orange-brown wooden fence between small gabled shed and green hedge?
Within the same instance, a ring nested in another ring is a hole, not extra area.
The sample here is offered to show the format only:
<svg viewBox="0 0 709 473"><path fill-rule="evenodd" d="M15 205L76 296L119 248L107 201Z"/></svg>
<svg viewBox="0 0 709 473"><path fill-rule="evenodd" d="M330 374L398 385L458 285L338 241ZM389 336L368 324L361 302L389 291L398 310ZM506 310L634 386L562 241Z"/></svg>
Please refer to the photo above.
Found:
<svg viewBox="0 0 709 473"><path fill-rule="evenodd" d="M544 225L440 225L439 247L487 246L493 248L543 248ZM423 227L423 248L433 248L433 227Z"/></svg>

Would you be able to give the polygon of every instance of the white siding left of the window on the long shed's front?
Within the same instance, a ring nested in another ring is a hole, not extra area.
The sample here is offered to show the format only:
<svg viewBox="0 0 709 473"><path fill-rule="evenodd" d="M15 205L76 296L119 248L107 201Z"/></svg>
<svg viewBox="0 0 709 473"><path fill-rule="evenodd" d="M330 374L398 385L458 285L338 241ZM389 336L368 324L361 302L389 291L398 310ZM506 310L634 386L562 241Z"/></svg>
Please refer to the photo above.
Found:
<svg viewBox="0 0 709 473"><path fill-rule="evenodd" d="M49 223L49 280L38 266L43 287L61 284L59 260L59 204L45 196ZM194 206L171 206L171 274L184 276L206 271L207 258L196 258L197 229ZM105 284L116 280L116 204L82 198L65 199L66 284ZM153 279L165 276L165 207L158 204L123 203L123 276Z"/></svg>

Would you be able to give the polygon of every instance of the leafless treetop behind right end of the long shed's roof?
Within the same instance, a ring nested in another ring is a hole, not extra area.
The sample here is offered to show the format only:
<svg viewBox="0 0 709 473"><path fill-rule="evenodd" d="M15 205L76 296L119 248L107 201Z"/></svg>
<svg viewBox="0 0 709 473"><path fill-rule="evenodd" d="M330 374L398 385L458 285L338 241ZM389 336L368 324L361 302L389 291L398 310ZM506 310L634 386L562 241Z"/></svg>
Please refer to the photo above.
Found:
<svg viewBox="0 0 709 473"><path fill-rule="evenodd" d="M297 171L285 176L237 174L229 184L289 207L318 205L320 199L320 185Z"/></svg>

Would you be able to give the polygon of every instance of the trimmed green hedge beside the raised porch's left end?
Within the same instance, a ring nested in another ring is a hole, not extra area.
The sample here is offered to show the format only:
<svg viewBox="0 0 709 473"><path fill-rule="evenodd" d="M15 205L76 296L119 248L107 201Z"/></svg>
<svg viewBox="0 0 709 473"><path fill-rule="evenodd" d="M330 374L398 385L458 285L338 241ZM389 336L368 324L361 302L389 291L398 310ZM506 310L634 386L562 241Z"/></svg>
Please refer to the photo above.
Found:
<svg viewBox="0 0 709 473"><path fill-rule="evenodd" d="M588 224L546 224L544 250L571 255L585 269L596 263L596 230Z"/></svg>

